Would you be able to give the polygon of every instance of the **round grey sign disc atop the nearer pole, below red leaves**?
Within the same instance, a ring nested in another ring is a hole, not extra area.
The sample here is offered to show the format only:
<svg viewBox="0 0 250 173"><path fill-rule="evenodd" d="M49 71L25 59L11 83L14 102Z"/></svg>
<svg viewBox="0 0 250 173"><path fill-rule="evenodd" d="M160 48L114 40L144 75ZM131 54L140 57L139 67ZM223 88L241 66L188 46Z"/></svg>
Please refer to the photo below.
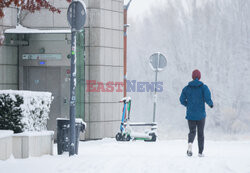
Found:
<svg viewBox="0 0 250 173"><path fill-rule="evenodd" d="M72 11L73 11L73 5L75 5L75 28L72 28L72 22L73 22L73 15L72 15ZM86 22L86 5L83 1L81 0L77 0L77 1L72 1L69 5L68 8L68 12L67 12L67 19L69 22L69 25L71 26L72 29L75 29L77 31L83 29L84 24Z"/></svg>

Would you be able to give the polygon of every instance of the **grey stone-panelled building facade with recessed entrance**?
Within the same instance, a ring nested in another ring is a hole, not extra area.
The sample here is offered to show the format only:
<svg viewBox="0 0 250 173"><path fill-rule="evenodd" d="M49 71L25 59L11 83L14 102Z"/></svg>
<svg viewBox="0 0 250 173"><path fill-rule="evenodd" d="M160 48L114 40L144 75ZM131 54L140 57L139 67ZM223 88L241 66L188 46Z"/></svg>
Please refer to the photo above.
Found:
<svg viewBox="0 0 250 173"><path fill-rule="evenodd" d="M81 73L84 77L81 76L78 82L82 85L83 80L104 85L122 82L123 0L84 2L87 22L82 33L85 41L80 47L85 49L85 66L78 60L78 70L84 71ZM71 36L66 17L69 4L64 0L54 0L53 4L61 10L60 14L46 9L35 13L22 12L21 25L41 32L5 34L5 43L0 47L0 89L52 92L54 101L49 130L56 130L56 118L69 117ZM15 8L5 9L5 17L0 22L1 31L16 27L16 14ZM123 92L116 92L116 89L114 92L88 92L86 86L80 95L84 96L79 100L80 105L84 105L79 117L87 123L85 139L114 137L119 130L122 105L118 101Z"/></svg>

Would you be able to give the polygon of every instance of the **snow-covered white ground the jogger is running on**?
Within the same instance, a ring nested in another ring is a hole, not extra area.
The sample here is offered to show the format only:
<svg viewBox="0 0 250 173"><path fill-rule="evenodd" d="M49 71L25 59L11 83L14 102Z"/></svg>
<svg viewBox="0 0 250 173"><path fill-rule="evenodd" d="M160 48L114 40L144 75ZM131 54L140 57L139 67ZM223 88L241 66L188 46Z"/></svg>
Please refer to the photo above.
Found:
<svg viewBox="0 0 250 173"><path fill-rule="evenodd" d="M206 141L204 158L185 155L186 141L81 142L79 155L0 161L1 173L250 173L250 141ZM56 152L56 151L55 151Z"/></svg>

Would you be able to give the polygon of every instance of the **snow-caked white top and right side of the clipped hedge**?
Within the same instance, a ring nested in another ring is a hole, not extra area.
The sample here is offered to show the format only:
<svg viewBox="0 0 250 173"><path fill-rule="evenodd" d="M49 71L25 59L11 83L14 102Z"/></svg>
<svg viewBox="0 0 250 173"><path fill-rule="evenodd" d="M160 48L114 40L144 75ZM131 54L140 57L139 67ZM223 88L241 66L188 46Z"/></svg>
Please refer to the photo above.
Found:
<svg viewBox="0 0 250 173"><path fill-rule="evenodd" d="M0 95L9 94L10 98L16 96L23 98L22 110L23 131L47 130L47 120L49 119L50 105L53 97L50 92L14 91L2 90Z"/></svg>

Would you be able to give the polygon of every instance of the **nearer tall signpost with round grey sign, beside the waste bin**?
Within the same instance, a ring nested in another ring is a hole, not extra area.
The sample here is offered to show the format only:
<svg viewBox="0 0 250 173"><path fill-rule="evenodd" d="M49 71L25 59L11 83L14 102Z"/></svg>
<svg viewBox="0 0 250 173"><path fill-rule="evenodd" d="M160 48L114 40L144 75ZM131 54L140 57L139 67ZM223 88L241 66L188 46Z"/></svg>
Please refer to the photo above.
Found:
<svg viewBox="0 0 250 173"><path fill-rule="evenodd" d="M69 156L75 154L76 117L76 34L84 28L86 6L83 1L73 0L69 5L67 19L71 26L71 71L70 71L70 146Z"/></svg>

